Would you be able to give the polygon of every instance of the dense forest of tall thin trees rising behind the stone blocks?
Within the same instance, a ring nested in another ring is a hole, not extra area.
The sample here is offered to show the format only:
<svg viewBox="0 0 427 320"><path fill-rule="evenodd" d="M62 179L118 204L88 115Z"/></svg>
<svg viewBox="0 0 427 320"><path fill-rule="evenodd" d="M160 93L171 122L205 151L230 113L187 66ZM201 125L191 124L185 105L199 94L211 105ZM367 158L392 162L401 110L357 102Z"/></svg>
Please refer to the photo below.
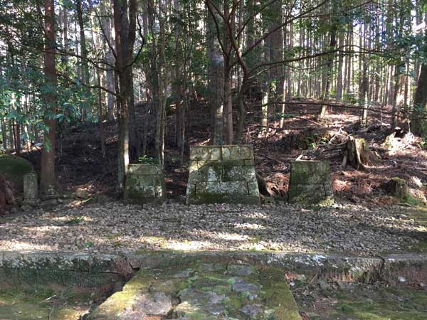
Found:
<svg viewBox="0 0 427 320"><path fill-rule="evenodd" d="M349 117L426 146L421 0L42 2L0 16L1 147L38 157L41 193L69 182L63 142L88 128L118 193L129 163L185 166L191 144L289 158L343 142Z"/></svg>

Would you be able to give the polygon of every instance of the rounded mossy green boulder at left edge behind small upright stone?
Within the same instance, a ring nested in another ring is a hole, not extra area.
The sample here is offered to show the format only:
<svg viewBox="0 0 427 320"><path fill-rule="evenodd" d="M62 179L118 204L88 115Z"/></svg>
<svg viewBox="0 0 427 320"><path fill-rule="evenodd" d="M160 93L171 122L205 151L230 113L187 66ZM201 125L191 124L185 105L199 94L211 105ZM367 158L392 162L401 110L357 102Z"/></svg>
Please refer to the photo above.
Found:
<svg viewBox="0 0 427 320"><path fill-rule="evenodd" d="M0 172L7 180L23 191L23 176L33 171L33 165L26 159L13 154L0 154Z"/></svg>

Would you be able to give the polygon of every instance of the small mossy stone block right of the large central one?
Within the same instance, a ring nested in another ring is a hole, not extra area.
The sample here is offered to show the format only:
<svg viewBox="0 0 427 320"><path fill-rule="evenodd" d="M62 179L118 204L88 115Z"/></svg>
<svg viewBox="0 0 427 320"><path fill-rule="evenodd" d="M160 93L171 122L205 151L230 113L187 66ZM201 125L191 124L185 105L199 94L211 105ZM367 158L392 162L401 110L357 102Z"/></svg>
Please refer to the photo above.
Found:
<svg viewBox="0 0 427 320"><path fill-rule="evenodd" d="M290 161L289 203L334 203L329 161Z"/></svg>

